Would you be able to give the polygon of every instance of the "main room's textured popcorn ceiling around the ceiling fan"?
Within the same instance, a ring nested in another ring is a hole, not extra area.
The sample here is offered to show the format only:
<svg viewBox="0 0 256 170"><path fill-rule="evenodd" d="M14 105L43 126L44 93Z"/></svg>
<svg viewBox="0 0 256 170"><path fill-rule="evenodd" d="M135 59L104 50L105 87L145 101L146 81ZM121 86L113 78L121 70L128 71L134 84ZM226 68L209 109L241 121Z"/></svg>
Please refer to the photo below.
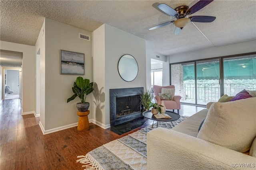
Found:
<svg viewBox="0 0 256 170"><path fill-rule="evenodd" d="M166 3L172 8L191 7L196 1L0 1L0 39L35 45L44 18L94 31L103 23L141 37L146 48L162 55L195 51L256 39L255 0L214 0L193 15L216 16L212 23L189 23L179 35L170 24L154 30L150 27L174 20L156 7Z"/></svg>

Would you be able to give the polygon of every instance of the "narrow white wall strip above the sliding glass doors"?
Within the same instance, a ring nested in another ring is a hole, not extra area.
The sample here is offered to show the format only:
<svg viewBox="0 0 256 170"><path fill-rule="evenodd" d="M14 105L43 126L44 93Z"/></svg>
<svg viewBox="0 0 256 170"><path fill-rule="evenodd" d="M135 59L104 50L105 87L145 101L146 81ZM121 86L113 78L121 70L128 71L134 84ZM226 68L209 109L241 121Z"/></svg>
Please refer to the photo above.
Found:
<svg viewBox="0 0 256 170"><path fill-rule="evenodd" d="M211 47L203 50L192 51L188 53L180 53L169 57L170 63L178 63L182 61L191 61L197 59L207 59L212 57L222 57L227 55L236 55L242 53L250 53L256 51L256 40L224 45L221 47Z"/></svg>

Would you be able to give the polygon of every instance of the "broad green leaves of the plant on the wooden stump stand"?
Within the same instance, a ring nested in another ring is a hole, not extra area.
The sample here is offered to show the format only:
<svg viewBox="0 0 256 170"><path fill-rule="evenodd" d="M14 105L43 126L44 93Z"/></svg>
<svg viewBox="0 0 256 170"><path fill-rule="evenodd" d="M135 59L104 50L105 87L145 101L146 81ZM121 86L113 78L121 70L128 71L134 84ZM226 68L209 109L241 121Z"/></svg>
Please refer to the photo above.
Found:
<svg viewBox="0 0 256 170"><path fill-rule="evenodd" d="M74 94L68 98L67 103L71 100L74 100L78 96L81 100L81 103L84 104L86 96L94 90L93 84L94 82L90 82L89 79L84 79L80 76L77 77L76 82L74 82L74 87L72 87Z"/></svg>

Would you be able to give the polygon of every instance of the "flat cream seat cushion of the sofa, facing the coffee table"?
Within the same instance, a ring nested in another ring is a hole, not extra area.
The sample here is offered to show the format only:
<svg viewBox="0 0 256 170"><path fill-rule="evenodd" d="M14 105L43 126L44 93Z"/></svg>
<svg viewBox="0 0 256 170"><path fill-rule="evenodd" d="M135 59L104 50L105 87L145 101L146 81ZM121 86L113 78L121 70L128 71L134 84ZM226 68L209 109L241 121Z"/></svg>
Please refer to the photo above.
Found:
<svg viewBox="0 0 256 170"><path fill-rule="evenodd" d="M201 111L198 111L196 114L182 121L182 123L179 123L173 127L172 130L196 137L198 133L198 127L202 120L206 117L207 113L208 109L202 109Z"/></svg>

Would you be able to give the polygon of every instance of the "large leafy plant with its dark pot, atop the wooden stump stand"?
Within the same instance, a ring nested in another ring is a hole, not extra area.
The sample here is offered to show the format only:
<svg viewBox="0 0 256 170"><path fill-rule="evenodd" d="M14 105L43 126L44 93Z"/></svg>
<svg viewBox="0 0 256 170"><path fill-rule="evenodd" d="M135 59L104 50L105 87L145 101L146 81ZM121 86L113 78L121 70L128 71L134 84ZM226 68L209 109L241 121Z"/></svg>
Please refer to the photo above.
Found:
<svg viewBox="0 0 256 170"><path fill-rule="evenodd" d="M76 108L80 112L85 112L88 110L90 103L85 102L86 96L90 94L94 88L93 88L94 82L90 82L89 79L84 79L82 77L77 77L76 82L74 82L74 87L72 87L73 96L68 98L67 103L71 100L74 100L77 96L80 98L81 103L76 104Z"/></svg>

